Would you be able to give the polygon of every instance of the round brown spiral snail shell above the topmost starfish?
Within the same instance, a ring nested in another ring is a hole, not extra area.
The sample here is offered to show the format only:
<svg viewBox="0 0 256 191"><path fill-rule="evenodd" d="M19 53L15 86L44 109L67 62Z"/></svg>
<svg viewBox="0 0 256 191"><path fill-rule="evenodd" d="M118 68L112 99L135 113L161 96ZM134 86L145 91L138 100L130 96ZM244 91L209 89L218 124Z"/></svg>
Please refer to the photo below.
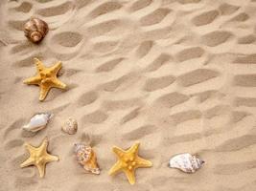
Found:
<svg viewBox="0 0 256 191"><path fill-rule="evenodd" d="M48 31L47 23L39 18L31 18L24 25L25 36L34 43L39 43Z"/></svg>

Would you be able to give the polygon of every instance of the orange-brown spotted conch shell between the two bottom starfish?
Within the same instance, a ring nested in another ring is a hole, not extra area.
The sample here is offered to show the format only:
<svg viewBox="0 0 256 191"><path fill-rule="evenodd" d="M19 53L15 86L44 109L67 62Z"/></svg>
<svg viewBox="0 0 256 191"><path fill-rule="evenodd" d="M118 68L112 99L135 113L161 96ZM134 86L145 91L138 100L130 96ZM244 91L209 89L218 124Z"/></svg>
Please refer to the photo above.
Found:
<svg viewBox="0 0 256 191"><path fill-rule="evenodd" d="M100 168L97 163L96 154L89 145L76 143L75 153L79 163L86 171L96 175L100 174Z"/></svg>

